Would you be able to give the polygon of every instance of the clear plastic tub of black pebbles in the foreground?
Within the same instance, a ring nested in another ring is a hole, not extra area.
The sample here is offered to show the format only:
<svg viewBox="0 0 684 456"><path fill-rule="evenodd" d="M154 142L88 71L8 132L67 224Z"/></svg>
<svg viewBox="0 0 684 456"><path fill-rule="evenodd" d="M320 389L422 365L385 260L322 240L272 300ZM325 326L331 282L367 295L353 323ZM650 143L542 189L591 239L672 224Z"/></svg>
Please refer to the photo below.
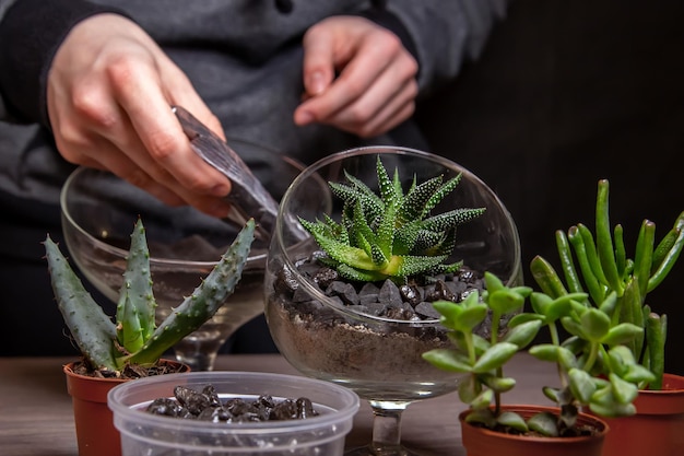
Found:
<svg viewBox="0 0 684 456"><path fill-rule="evenodd" d="M220 398L307 397L319 416L303 420L248 423L208 422L161 417L144 411L160 397L173 397L184 385L212 385ZM114 424L121 434L122 456L327 455L344 453L344 437L358 410L358 396L329 382L255 372L191 372L127 382L109 391Z"/></svg>

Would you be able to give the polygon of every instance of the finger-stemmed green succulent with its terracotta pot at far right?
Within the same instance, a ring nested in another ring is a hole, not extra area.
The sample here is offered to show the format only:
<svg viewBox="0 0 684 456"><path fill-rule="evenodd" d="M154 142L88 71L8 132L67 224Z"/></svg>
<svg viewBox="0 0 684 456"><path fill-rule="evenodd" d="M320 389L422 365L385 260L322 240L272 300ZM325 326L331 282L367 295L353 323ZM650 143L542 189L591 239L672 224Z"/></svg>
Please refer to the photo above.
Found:
<svg viewBox="0 0 684 456"><path fill-rule="evenodd" d="M602 179L598 184L594 233L586 225L577 224L567 234L556 232L556 245L563 278L549 261L538 257L531 265L538 284L554 297L567 291L586 290L586 303L594 306L605 296L615 294L620 311L613 320L642 328L642 335L626 347L654 374L651 382L639 384L640 391L635 401L637 413L609 420L611 433L606 436L603 454L674 454L674 448L684 444L684 377L665 372L668 316L659 314L647 297L668 276L684 248L684 212L659 242L656 242L656 224L644 220L636 245L629 253L625 247L623 226L611 227L609 182Z"/></svg>

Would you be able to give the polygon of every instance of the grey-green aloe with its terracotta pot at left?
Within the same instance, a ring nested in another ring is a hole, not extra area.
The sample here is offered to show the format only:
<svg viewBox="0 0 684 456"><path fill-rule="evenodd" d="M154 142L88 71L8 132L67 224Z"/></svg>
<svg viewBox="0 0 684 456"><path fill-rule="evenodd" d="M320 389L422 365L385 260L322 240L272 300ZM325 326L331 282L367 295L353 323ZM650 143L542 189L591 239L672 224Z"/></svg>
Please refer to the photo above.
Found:
<svg viewBox="0 0 684 456"><path fill-rule="evenodd" d="M115 321L85 290L59 246L49 235L46 237L55 297L82 354L81 361L64 366L81 456L120 455L120 437L107 407L107 393L138 376L178 371L177 362L161 356L211 318L233 292L249 254L253 231L255 222L249 220L192 295L158 327L155 327L150 255L142 220L138 219L131 234ZM169 370L174 364L176 367Z"/></svg>

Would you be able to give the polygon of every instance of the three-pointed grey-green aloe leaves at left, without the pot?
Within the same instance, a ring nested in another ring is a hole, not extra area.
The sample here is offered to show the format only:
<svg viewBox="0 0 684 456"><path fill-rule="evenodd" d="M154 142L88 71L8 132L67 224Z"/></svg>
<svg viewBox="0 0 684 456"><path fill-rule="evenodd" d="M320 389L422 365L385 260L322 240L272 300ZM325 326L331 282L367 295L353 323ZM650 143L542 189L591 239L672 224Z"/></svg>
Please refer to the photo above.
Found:
<svg viewBox="0 0 684 456"><path fill-rule="evenodd" d="M194 292L155 325L150 254L139 218L131 234L115 320L85 290L59 246L48 235L46 258L52 290L71 336L91 369L120 372L127 364L152 365L185 336L211 318L233 293L253 241L248 220L227 252Z"/></svg>

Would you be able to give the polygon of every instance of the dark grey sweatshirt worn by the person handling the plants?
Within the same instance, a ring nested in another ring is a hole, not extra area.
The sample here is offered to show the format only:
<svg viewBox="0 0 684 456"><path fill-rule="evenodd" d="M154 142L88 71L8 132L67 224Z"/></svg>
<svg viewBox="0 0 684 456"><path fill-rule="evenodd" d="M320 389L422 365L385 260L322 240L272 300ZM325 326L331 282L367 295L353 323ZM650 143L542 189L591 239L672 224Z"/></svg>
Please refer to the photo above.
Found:
<svg viewBox="0 0 684 456"><path fill-rule="evenodd" d="M99 12L129 16L185 70L227 137L311 163L363 143L425 145L410 121L366 141L326 126L294 125L293 112L303 92L300 42L308 27L330 15L359 14L390 28L420 63L424 97L453 80L465 59L477 56L494 21L504 14L504 3L0 0L0 319L7 327L0 334L0 355L74 352L52 303L40 243L46 233L63 242L59 192L74 168L55 148L46 115L46 78L59 44L79 21ZM245 159L249 164L249 156ZM110 187L98 189L116 192ZM91 291L113 315L115 303ZM263 318L256 318L225 350L272 352L268 335Z"/></svg>

